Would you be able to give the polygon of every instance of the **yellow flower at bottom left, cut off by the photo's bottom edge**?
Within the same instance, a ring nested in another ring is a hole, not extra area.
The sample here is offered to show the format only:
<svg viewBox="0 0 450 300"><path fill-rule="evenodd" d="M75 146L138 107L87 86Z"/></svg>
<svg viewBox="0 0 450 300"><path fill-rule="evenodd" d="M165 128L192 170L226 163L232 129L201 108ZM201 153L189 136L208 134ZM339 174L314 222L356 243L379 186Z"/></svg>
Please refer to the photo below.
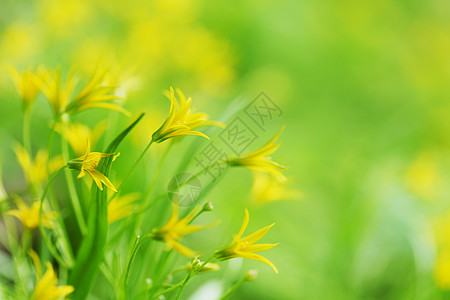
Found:
<svg viewBox="0 0 450 300"><path fill-rule="evenodd" d="M33 255L30 253L30 256L32 256L35 264L37 279L36 286L34 287L30 300L58 300L61 299L61 297L65 298L65 296L74 291L74 288L71 285L58 286L58 277L53 270L52 264L49 262L45 263L47 270L45 271L44 276L41 277L42 267L39 257L36 253Z"/></svg>

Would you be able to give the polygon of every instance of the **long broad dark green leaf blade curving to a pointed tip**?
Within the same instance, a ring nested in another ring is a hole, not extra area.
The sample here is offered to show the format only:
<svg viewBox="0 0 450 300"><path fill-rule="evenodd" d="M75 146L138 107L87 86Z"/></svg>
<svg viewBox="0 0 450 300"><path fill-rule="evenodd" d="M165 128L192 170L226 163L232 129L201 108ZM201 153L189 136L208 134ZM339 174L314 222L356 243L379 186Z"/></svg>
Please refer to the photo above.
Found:
<svg viewBox="0 0 450 300"><path fill-rule="evenodd" d="M142 113L136 121L120 133L106 148L105 153L113 153L125 136L142 119ZM103 158L97 168L106 177L109 176L113 156ZM86 299L95 282L100 264L103 260L106 239L108 236L108 200L107 188L101 191L92 183L92 195L88 215L88 232L78 252L75 266L70 273L69 284L75 288L73 299Z"/></svg>

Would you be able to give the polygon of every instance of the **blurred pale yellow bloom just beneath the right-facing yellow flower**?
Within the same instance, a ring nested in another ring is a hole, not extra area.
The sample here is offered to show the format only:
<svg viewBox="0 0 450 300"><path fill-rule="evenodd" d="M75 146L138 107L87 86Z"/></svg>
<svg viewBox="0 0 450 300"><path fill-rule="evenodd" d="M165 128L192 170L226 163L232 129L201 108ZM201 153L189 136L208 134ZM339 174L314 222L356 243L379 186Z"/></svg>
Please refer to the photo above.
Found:
<svg viewBox="0 0 450 300"><path fill-rule="evenodd" d="M300 192L286 186L286 182L280 182L267 174L253 173L253 186L251 190L252 201L255 204L267 204L281 200L299 199Z"/></svg>

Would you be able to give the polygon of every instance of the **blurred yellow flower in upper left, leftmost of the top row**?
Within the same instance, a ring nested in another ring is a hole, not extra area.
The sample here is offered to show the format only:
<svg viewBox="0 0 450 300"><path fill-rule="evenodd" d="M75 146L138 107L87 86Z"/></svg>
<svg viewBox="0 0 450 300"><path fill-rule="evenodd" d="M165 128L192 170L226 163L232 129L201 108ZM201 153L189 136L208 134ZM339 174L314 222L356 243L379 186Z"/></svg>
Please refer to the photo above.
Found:
<svg viewBox="0 0 450 300"><path fill-rule="evenodd" d="M24 109L28 110L39 93L39 88L36 85L36 74L31 70L25 70L20 74L14 67L8 67L8 71L22 99Z"/></svg>

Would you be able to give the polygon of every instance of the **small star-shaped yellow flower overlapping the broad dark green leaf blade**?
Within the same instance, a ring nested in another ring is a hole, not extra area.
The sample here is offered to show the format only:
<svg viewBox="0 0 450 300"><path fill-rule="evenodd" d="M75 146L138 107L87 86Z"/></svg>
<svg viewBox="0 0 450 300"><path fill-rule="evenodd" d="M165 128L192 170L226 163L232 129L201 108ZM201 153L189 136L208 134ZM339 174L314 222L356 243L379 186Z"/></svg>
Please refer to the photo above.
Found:
<svg viewBox="0 0 450 300"><path fill-rule="evenodd" d="M78 158L69 161L67 165L69 166L70 169L80 170L78 178L82 178L84 175L86 175L86 172L88 172L89 175L92 176L92 179L94 179L95 184L101 191L103 191L102 185L103 183L114 192L117 192L116 188L111 183L111 181L109 181L108 177L106 177L100 171L94 169L95 167L98 166L98 162L100 161L100 159L111 155L114 155L114 153L91 152L91 143L88 140L86 153L83 156L80 156Z"/></svg>

